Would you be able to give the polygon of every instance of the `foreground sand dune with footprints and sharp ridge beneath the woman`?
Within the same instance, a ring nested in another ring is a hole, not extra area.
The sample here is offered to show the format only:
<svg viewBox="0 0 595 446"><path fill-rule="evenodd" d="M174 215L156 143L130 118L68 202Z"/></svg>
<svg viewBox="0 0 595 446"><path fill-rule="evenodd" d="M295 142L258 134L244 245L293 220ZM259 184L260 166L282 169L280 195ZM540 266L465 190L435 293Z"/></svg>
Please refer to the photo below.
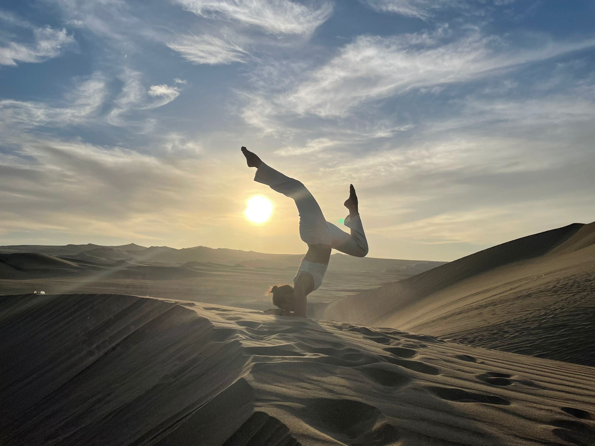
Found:
<svg viewBox="0 0 595 446"><path fill-rule="evenodd" d="M3 445L593 445L595 369L134 296L0 297ZM35 353L35 354L33 354Z"/></svg>

